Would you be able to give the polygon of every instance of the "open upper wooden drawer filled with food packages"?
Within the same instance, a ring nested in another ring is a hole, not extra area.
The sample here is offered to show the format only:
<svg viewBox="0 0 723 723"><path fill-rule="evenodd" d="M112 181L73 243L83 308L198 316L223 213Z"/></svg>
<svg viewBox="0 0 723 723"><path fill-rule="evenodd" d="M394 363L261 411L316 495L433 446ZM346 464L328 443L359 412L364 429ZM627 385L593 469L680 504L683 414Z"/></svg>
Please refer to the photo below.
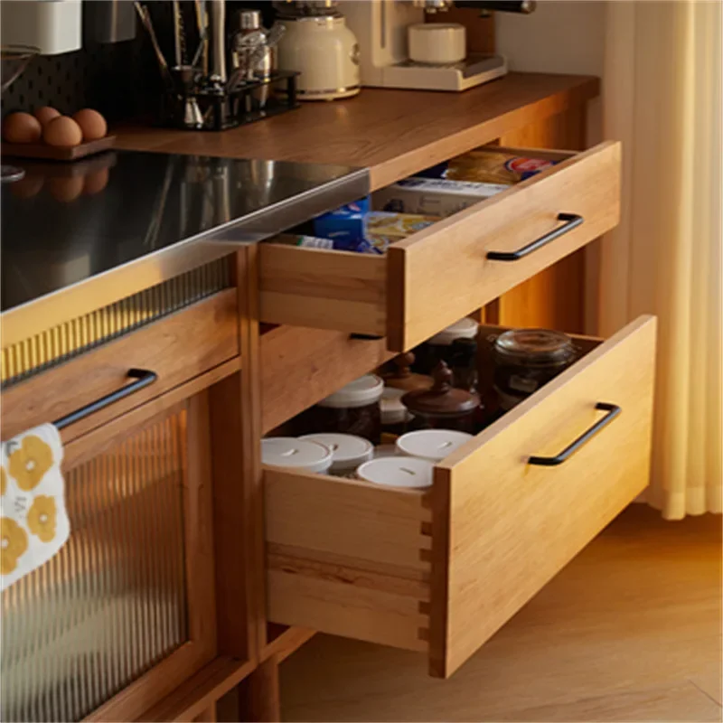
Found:
<svg viewBox="0 0 723 723"><path fill-rule="evenodd" d="M261 321L386 336L405 352L615 227L619 143L518 152L566 160L383 257L262 244Z"/></svg>

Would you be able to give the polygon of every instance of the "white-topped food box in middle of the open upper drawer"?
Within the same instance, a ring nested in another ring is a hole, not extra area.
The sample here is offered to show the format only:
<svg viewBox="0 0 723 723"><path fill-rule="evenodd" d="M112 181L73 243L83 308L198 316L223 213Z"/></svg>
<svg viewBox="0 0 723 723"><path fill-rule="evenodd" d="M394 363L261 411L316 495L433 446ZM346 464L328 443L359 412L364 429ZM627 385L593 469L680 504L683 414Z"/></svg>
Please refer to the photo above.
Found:
<svg viewBox="0 0 723 723"><path fill-rule="evenodd" d="M509 187L507 183L471 183L414 177L374 192L371 202L375 209L381 211L446 217Z"/></svg>

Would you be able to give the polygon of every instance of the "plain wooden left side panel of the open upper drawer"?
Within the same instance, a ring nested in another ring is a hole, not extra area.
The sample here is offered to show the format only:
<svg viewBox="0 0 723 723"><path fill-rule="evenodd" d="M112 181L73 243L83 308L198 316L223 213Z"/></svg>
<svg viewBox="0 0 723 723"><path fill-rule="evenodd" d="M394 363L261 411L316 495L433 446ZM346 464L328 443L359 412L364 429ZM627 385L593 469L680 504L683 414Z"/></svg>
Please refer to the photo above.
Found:
<svg viewBox="0 0 723 723"><path fill-rule="evenodd" d="M385 258L273 243L258 254L262 322L384 335Z"/></svg>

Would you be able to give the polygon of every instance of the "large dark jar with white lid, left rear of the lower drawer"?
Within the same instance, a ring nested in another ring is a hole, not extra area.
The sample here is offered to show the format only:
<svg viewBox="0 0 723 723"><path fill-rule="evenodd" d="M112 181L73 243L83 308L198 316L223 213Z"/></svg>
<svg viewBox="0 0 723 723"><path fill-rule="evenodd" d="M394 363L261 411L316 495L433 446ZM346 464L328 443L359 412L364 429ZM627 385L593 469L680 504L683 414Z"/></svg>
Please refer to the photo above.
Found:
<svg viewBox="0 0 723 723"><path fill-rule="evenodd" d="M341 432L379 444L383 390L384 382L376 374L350 382L309 410L309 432Z"/></svg>

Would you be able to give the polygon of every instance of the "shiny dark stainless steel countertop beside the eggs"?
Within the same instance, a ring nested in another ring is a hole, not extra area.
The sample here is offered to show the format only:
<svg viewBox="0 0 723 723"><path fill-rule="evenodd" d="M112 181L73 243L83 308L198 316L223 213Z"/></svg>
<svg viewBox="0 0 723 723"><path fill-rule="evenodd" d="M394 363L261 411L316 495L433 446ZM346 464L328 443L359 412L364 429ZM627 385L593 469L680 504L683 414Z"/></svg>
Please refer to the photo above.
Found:
<svg viewBox="0 0 723 723"><path fill-rule="evenodd" d="M4 333L87 313L369 192L367 170L339 165L136 151L4 160L26 171L2 186Z"/></svg>

